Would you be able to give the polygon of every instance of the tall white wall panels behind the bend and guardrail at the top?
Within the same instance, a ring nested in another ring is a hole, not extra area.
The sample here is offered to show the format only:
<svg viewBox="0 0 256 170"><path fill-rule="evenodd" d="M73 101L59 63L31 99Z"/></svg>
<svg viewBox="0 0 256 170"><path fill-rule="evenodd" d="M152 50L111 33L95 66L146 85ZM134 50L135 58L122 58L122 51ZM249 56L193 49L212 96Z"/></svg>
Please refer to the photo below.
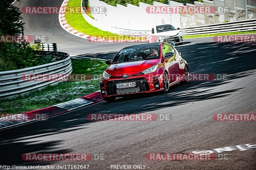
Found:
<svg viewBox="0 0 256 170"><path fill-rule="evenodd" d="M195 4L186 4L186 6L174 1L169 1L169 4L154 2L153 5L140 2L139 6L116 4L116 7L100 0L88 0L88 2L91 7L105 7L107 12L92 14L95 19L83 14L85 20L101 30L118 34L130 30L131 33L137 31L143 35L150 32L153 26L164 24L171 24L176 28L185 28L256 18L255 0L203 0L204 3L195 2ZM214 11L212 14L152 14L146 12L146 8L150 6L180 6L185 8L188 6L210 6L214 9L222 9L222 11Z"/></svg>

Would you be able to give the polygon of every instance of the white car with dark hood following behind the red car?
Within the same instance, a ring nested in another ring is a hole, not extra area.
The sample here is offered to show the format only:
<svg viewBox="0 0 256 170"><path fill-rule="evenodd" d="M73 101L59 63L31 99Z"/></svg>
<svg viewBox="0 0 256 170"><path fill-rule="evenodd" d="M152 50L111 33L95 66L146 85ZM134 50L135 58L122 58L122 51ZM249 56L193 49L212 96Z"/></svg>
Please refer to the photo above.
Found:
<svg viewBox="0 0 256 170"><path fill-rule="evenodd" d="M183 44L182 34L180 28L176 29L172 25L158 25L152 28L152 35L157 37L156 42L174 42Z"/></svg>

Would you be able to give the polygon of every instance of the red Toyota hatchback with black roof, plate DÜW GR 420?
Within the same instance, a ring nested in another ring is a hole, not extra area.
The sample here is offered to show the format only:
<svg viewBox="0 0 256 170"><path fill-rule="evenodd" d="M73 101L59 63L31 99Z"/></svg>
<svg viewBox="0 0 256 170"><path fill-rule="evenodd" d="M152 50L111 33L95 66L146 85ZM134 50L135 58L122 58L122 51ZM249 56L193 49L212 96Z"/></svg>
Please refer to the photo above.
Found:
<svg viewBox="0 0 256 170"><path fill-rule="evenodd" d="M101 97L113 102L131 93L164 90L178 82L188 82L188 63L174 48L174 43L148 43L128 46L112 60L100 81Z"/></svg>

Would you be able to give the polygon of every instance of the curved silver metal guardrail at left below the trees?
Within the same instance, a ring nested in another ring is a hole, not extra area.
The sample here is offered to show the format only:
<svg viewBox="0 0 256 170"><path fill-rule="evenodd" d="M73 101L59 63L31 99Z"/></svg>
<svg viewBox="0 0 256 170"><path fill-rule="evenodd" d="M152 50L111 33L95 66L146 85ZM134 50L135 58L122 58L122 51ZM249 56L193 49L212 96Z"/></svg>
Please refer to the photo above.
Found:
<svg viewBox="0 0 256 170"><path fill-rule="evenodd" d="M57 81L24 81L23 74L70 74L72 62L67 53L38 51L38 55L51 54L62 60L35 67L0 72L0 100L25 95L32 90L44 88ZM64 58L64 59L63 59Z"/></svg>

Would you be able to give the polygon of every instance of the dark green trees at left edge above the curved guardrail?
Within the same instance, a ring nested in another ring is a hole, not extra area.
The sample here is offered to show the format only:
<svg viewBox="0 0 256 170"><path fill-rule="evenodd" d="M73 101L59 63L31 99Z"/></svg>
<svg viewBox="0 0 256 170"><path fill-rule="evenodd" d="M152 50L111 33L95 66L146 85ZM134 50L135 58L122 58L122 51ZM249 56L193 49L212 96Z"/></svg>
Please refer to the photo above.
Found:
<svg viewBox="0 0 256 170"><path fill-rule="evenodd" d="M21 12L12 5L13 0L0 1L0 36L20 35L24 29ZM34 51L27 42L0 43L0 71L20 69L35 65L31 60Z"/></svg>

